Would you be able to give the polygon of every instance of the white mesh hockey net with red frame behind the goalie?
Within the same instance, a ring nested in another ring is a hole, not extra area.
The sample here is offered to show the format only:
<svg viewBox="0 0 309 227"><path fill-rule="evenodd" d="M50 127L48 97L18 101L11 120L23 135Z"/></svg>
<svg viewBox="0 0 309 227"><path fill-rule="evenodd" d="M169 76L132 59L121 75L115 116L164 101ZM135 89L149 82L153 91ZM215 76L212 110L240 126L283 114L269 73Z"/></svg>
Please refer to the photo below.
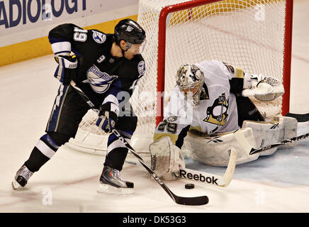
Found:
<svg viewBox="0 0 309 227"><path fill-rule="evenodd" d="M291 50L286 50L285 45L290 16L288 1L140 0L137 22L147 35L142 53L146 73L130 99L138 117L131 140L133 148L148 152L156 117L163 113L161 109L157 111L157 84L164 81L162 90L167 104L169 92L176 84L176 70L183 63L220 60L245 72L279 78L281 82L283 74L289 77L291 62L286 56L291 55ZM168 13L165 21L167 6L175 11ZM254 99L254 103L269 116L281 114L283 99L271 102ZM91 153L106 150L107 137L95 126L95 121L96 114L89 111L70 145Z"/></svg>

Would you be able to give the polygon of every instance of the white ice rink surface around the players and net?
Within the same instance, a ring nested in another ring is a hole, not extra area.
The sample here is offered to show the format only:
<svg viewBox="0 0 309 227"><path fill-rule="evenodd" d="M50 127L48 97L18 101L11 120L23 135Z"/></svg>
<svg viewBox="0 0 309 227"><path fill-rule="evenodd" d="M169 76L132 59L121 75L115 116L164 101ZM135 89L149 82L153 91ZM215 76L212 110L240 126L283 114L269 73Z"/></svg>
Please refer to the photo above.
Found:
<svg viewBox="0 0 309 227"><path fill-rule="evenodd" d="M294 1L291 112L309 112L309 2ZM21 53L19 53L21 54ZM62 147L30 179L27 187L13 191L11 180L43 135L59 82L52 77L52 55L0 68L0 212L309 212L309 139L295 148L277 150L269 157L238 165L226 188L167 182L180 196L206 194L205 206L177 205L147 172L125 165L123 178L135 183L130 196L99 194L104 157ZM300 123L298 135L309 132ZM186 160L187 167L217 175L225 168ZM45 192L52 205L45 205Z"/></svg>

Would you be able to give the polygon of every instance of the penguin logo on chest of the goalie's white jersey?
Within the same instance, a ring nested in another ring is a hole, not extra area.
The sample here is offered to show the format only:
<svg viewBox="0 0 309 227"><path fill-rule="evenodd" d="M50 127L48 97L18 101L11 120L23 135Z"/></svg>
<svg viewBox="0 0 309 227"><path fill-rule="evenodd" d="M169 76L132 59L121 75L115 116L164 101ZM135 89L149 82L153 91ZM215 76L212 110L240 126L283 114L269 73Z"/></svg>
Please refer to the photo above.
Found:
<svg viewBox="0 0 309 227"><path fill-rule="evenodd" d="M213 106L207 108L207 116L203 121L214 123L215 125L224 126L227 120L227 109L229 99L225 98L225 93L221 94L213 102Z"/></svg>

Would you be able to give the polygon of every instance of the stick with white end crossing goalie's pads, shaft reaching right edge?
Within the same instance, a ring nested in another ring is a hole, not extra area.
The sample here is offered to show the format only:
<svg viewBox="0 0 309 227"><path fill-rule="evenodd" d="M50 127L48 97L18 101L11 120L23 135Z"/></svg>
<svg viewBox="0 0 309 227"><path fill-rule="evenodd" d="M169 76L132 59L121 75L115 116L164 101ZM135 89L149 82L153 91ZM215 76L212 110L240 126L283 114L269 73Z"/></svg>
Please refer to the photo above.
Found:
<svg viewBox="0 0 309 227"><path fill-rule="evenodd" d="M309 137L309 133L306 133L306 134L303 134L303 135L299 135L299 136L293 137L293 138L288 139L288 140L283 140L283 141L281 141L279 143L274 143L274 144L271 144L271 145L267 145L264 148L254 149L254 148L252 148L252 145L250 145L248 143L248 141L246 140L245 136L242 134L242 132L240 130L235 133L236 140L245 148L245 150L247 151L247 153L249 153L249 155L260 153L260 152L262 152L264 150L269 150L271 148L276 148L276 147L279 147L280 145L286 145L288 143L292 143L293 141L303 140L303 139L308 138L308 137Z"/></svg>

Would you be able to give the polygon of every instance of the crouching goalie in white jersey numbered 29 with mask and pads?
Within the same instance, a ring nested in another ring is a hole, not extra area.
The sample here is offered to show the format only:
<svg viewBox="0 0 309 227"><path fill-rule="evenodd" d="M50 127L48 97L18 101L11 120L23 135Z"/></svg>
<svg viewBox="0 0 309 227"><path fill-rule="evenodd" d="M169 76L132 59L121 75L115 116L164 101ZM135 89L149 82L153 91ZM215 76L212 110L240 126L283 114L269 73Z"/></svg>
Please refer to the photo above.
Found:
<svg viewBox="0 0 309 227"><path fill-rule="evenodd" d="M214 166L227 166L231 147L237 150L237 164L273 154L277 148L249 155L233 133L241 130L254 148L296 136L295 118L264 119L248 97L271 101L283 93L278 79L245 73L217 60L181 65L164 119L150 145L152 157L162 157L162 153L168 157L163 162L152 158L152 168L163 179L174 179L174 173L184 168L184 151L188 157Z"/></svg>

